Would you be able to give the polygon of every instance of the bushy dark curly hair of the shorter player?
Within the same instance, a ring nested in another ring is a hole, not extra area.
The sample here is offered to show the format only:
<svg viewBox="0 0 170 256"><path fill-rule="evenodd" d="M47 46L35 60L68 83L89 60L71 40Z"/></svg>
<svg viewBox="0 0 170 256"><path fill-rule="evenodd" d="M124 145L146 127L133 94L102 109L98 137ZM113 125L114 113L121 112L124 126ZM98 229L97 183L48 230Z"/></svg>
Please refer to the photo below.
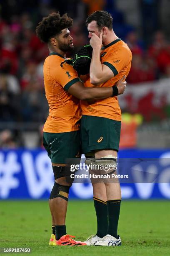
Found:
<svg viewBox="0 0 170 256"><path fill-rule="evenodd" d="M36 27L37 37L44 43L49 42L50 38L61 33L62 29L71 27L73 19L67 16L67 13L60 16L60 13L51 13L42 18Z"/></svg>

